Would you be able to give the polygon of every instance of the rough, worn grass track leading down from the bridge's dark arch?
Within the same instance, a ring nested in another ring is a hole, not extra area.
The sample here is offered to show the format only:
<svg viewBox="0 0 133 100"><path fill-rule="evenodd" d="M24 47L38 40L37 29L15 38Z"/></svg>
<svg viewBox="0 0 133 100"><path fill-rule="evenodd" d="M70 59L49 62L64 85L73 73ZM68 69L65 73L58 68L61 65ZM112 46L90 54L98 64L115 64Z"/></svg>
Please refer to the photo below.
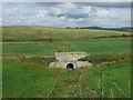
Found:
<svg viewBox="0 0 133 100"><path fill-rule="evenodd" d="M85 98L89 97L90 87L88 76L81 70L64 71L49 97L52 98Z"/></svg>

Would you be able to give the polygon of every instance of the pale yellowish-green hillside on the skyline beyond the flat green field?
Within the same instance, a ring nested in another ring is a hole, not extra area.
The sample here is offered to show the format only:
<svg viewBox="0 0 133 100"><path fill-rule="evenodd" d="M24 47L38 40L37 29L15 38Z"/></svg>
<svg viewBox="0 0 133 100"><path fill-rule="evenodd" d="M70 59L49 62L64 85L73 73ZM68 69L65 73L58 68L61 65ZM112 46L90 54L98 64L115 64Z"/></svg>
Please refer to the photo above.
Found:
<svg viewBox="0 0 133 100"><path fill-rule="evenodd" d="M65 29L47 27L2 27L2 39L11 41L30 40L88 40L92 37L122 36L122 32L91 31L88 29ZM127 32L130 34L130 32Z"/></svg>

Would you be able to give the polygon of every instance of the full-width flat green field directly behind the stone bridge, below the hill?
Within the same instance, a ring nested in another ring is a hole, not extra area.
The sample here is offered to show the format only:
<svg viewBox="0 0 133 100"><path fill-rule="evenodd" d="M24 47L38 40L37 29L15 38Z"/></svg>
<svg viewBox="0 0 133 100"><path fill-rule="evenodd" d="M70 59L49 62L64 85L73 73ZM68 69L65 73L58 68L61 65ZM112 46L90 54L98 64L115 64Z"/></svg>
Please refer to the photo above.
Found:
<svg viewBox="0 0 133 100"><path fill-rule="evenodd" d="M3 43L6 54L54 54L55 51L85 51L88 53L130 52L131 40L90 40L90 41L58 41L37 43Z"/></svg>

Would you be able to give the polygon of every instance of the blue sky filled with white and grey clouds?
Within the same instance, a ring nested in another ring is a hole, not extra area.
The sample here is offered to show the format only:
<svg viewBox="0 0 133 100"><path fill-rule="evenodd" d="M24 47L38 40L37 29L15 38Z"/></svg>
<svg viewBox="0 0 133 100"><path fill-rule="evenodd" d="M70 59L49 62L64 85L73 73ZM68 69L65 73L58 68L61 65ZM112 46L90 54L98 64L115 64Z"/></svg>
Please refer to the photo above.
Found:
<svg viewBox="0 0 133 100"><path fill-rule="evenodd" d="M3 2L0 22L2 26L130 27L131 3Z"/></svg>

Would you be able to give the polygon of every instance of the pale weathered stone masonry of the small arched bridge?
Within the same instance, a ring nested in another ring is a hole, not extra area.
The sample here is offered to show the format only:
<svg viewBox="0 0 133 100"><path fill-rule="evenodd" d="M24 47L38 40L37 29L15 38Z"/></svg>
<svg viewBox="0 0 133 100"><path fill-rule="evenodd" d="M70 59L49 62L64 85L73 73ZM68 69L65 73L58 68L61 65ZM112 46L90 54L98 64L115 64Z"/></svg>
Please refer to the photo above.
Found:
<svg viewBox="0 0 133 100"><path fill-rule="evenodd" d="M92 63L88 61L78 61L81 58L84 58L89 54L85 52L55 52L55 59L57 62L51 62L49 67L51 68L64 68L66 69L66 66L69 63L73 64L73 69L81 68L81 67L91 67Z"/></svg>

